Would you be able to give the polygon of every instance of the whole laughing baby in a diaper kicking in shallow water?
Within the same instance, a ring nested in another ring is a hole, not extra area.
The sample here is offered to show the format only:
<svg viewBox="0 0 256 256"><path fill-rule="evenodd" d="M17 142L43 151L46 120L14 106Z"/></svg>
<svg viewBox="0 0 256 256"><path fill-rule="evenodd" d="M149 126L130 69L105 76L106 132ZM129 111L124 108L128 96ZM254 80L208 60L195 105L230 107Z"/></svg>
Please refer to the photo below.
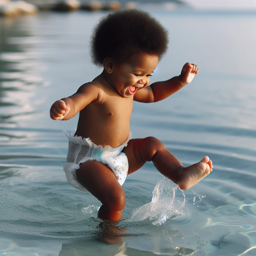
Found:
<svg viewBox="0 0 256 256"><path fill-rule="evenodd" d="M79 112L76 130L66 132L69 147L64 171L71 185L101 201L99 218L120 221L125 206L121 185L147 161L181 189L212 172L207 156L184 167L158 139L132 139L133 101L165 99L198 72L197 65L186 63L179 76L149 86L167 44L167 31L147 12L110 13L95 26L90 43L92 61L103 68L102 73L50 109L53 120L68 120Z"/></svg>

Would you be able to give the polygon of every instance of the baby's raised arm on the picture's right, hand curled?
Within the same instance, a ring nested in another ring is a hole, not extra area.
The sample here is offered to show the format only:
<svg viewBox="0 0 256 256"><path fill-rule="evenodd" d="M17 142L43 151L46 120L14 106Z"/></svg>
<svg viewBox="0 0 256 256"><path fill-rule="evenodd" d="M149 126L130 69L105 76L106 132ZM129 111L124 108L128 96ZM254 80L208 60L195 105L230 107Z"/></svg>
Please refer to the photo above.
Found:
<svg viewBox="0 0 256 256"><path fill-rule="evenodd" d="M161 101L190 83L198 71L197 65L186 63L179 76L174 76L166 81L155 82L142 90L138 90L134 95L134 100L146 103Z"/></svg>

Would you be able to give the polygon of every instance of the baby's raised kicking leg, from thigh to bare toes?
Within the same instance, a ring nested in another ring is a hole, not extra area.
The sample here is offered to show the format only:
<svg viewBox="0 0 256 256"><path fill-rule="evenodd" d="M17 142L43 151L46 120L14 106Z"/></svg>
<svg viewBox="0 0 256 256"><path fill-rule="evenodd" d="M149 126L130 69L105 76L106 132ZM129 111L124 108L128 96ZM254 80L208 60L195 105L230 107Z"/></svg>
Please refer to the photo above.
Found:
<svg viewBox="0 0 256 256"><path fill-rule="evenodd" d="M165 145L154 137L130 140L123 151L129 161L128 174L138 170L145 162L153 161L159 172L176 182L181 189L191 188L212 172L212 161L208 157L184 167Z"/></svg>

